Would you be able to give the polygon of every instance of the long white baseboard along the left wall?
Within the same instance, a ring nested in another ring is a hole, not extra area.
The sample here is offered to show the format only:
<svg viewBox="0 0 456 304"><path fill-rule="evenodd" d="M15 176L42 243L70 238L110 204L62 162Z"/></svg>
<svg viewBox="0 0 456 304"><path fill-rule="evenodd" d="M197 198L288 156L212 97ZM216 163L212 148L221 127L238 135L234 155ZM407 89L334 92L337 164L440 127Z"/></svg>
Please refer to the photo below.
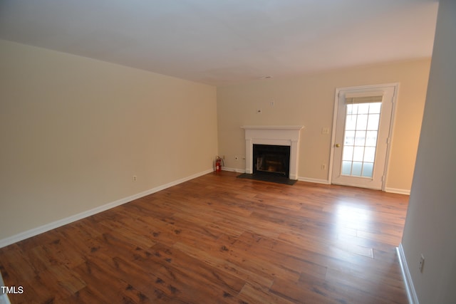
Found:
<svg viewBox="0 0 456 304"><path fill-rule="evenodd" d="M187 182L187 181L190 181L191 179L195 179L197 177L201 177L202 175L208 174L208 173L213 172L213 171L214 171L213 169L208 169L206 171L190 175L189 177L184 177L182 179L177 179L174 182L163 184L161 186L146 190L144 192L140 192L138 194L133 194L131 196L125 197L123 199L119 199L117 201L112 201L112 202L110 202L108 204L104 204L102 206L95 207L95 208L90 209L88 211L83 211L83 212L81 212L79 214L75 214L73 216L68 216L65 219L59 219L58 221L53 221L53 222L51 222L49 224L45 224L43 226L39 226L39 227L30 229L30 230L21 232L20 234L16 234L14 236L10 236L10 237L8 237L6 239L1 239L0 240L0 248L3 248L5 246L9 246L9 245L11 245L13 243L16 243L16 242L19 242L19 241L23 241L25 239L31 238L32 236L37 236L38 234L42 234L43 232L46 232L46 231L49 231L49 230L52 230L52 229L56 229L58 227L66 225L66 224L70 224L73 221L78 221L78 220L84 219L84 218L86 218L88 216L93 216L94 214L98 214L100 212L112 209L112 208L114 208L116 206L120 206L120 205L126 204L126 203L128 203L130 201L134 201L135 199L140 199L143 196L147 196L149 194L153 194L155 192L162 191L164 189L173 187L173 186L175 186L177 184L182 184L183 182Z"/></svg>

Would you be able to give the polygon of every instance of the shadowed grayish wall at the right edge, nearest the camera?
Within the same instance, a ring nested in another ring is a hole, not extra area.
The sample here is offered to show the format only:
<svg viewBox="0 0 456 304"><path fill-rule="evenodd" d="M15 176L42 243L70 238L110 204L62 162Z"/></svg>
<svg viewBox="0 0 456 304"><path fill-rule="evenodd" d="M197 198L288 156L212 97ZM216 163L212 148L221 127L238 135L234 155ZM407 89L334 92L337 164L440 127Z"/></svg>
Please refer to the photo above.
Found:
<svg viewBox="0 0 456 304"><path fill-rule="evenodd" d="M421 304L456 303L455 21L456 1L440 0L423 129L402 240L408 272ZM418 270L421 254L425 257L423 272Z"/></svg>

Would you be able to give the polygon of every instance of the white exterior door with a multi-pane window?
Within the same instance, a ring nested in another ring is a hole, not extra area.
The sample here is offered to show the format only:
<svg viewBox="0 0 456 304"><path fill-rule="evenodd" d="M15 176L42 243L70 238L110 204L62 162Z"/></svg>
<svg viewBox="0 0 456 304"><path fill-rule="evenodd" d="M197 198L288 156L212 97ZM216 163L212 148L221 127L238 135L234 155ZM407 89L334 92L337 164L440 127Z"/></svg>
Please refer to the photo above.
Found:
<svg viewBox="0 0 456 304"><path fill-rule="evenodd" d="M336 91L332 184L384 189L397 85Z"/></svg>

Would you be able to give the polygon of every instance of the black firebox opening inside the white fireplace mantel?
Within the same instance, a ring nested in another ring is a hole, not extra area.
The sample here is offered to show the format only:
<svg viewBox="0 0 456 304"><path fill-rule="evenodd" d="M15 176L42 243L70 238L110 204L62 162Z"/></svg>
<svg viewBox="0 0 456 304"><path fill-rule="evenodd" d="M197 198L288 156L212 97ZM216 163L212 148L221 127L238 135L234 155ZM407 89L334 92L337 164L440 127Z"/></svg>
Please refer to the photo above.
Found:
<svg viewBox="0 0 456 304"><path fill-rule="evenodd" d="M253 174L289 178L290 146L253 145Z"/></svg>

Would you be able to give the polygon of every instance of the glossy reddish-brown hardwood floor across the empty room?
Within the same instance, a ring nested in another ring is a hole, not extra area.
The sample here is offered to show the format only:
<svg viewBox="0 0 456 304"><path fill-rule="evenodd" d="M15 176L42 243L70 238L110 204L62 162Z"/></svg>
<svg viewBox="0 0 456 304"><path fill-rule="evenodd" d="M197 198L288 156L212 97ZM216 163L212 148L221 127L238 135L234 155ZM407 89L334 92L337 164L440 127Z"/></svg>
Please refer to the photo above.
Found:
<svg viewBox="0 0 456 304"><path fill-rule="evenodd" d="M408 196L207 174L0 248L11 303L408 303Z"/></svg>

